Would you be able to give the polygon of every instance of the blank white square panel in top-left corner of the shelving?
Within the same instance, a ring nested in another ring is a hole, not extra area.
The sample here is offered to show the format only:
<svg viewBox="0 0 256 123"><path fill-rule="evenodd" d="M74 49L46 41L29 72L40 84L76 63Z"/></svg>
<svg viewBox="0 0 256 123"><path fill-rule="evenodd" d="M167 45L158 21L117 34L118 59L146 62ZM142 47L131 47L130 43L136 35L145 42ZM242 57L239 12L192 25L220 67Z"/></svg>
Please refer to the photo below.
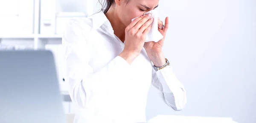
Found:
<svg viewBox="0 0 256 123"><path fill-rule="evenodd" d="M0 34L33 34L34 0L0 0Z"/></svg>

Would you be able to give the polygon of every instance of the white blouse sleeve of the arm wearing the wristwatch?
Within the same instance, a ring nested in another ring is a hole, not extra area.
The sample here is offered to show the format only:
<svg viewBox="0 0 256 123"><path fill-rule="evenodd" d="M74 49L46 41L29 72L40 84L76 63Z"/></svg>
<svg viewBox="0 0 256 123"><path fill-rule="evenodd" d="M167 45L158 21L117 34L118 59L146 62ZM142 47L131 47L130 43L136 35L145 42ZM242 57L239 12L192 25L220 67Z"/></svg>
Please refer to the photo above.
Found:
<svg viewBox="0 0 256 123"><path fill-rule="evenodd" d="M160 91L160 97L175 111L180 111L186 105L186 90L172 71L166 66L157 72L152 70L152 85Z"/></svg>

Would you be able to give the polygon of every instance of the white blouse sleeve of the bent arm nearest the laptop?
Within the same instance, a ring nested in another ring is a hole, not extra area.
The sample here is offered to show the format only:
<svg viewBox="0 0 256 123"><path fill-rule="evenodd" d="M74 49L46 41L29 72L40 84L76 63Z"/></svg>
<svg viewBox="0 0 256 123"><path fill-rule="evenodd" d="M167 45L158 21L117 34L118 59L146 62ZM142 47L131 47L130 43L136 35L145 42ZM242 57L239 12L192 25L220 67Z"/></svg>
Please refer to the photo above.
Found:
<svg viewBox="0 0 256 123"><path fill-rule="evenodd" d="M82 25L72 19L62 38L65 47L64 79L69 84L69 93L73 102L84 107L95 96L102 96L115 85L118 80L125 78L125 72L130 65L116 56L105 67L93 72L89 65L92 54L91 27ZM94 102L93 102L94 103Z"/></svg>

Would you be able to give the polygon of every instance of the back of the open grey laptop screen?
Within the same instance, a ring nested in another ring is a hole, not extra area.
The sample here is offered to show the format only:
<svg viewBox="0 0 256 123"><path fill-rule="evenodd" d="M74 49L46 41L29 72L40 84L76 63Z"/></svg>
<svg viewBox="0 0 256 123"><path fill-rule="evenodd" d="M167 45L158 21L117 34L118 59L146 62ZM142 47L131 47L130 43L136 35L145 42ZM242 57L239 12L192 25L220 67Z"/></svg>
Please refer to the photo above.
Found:
<svg viewBox="0 0 256 123"><path fill-rule="evenodd" d="M0 123L66 123L51 51L0 51Z"/></svg>

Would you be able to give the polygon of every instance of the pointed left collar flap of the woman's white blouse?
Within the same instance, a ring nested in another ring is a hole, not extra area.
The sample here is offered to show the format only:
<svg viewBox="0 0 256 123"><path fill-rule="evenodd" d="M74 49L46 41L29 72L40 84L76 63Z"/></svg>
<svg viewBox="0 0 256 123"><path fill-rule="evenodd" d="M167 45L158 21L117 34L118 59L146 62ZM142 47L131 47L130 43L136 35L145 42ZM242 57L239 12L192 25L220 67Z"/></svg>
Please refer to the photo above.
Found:
<svg viewBox="0 0 256 123"><path fill-rule="evenodd" d="M99 11L98 13L91 15L89 18L92 19L93 29L98 29L106 21L109 21L103 11Z"/></svg>

